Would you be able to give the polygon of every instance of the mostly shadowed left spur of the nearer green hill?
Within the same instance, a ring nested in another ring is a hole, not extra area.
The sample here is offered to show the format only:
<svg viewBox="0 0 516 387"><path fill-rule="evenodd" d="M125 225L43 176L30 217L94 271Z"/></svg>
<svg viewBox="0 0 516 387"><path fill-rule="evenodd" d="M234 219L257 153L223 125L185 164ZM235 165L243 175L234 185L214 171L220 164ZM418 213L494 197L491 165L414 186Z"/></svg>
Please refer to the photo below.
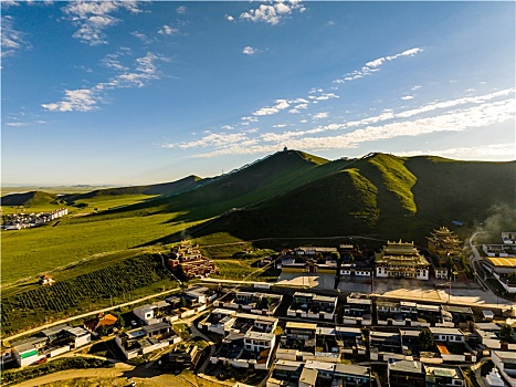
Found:
<svg viewBox="0 0 516 387"><path fill-rule="evenodd" d="M225 231L242 240L354 234L376 224L377 194L358 169L345 169L221 217L202 233Z"/></svg>

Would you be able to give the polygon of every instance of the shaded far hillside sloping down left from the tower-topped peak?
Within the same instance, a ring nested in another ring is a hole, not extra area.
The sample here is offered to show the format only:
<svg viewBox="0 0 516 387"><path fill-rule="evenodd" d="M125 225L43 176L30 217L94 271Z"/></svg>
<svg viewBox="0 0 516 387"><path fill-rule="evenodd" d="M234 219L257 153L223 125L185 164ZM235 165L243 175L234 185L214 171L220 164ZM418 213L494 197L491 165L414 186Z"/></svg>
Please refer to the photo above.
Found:
<svg viewBox="0 0 516 387"><path fill-rule="evenodd" d="M288 192L309 181L344 168L350 161L328 161L296 150L281 151L214 178L189 192L157 198L116 211L118 216L131 212L178 212L178 220L199 221L217 217L235 208L256 205L271 197Z"/></svg>

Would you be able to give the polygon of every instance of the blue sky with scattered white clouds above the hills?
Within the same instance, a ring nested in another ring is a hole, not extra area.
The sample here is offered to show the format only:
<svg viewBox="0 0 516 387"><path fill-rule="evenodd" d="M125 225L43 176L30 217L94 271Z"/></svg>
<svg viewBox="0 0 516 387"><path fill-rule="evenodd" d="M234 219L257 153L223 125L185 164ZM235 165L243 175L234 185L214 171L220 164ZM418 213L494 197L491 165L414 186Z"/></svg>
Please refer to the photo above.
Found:
<svg viewBox="0 0 516 387"><path fill-rule="evenodd" d="M515 159L514 2L2 1L2 184L219 175L284 146Z"/></svg>

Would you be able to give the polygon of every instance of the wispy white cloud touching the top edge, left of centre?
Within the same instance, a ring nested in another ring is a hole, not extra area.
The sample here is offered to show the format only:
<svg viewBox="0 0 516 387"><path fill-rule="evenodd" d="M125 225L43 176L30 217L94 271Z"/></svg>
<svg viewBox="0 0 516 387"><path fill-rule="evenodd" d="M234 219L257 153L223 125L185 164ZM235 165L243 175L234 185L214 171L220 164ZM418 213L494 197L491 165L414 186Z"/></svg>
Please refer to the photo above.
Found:
<svg viewBox="0 0 516 387"><path fill-rule="evenodd" d="M104 32L108 27L119 22L112 15L120 9L131 13L141 12L136 1L73 1L69 2L62 10L69 15L69 20L76 27L73 38L89 45L107 44Z"/></svg>

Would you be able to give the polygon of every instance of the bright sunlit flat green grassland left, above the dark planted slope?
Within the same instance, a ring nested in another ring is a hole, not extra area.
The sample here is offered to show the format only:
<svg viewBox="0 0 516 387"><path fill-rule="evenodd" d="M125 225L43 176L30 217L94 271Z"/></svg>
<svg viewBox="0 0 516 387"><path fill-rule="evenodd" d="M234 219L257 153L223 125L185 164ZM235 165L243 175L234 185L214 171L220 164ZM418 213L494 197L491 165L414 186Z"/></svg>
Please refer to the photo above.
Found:
<svg viewBox="0 0 516 387"><path fill-rule="evenodd" d="M173 222L175 216L63 218L41 228L2 231L1 283L33 278L94 254L123 251L194 224Z"/></svg>

